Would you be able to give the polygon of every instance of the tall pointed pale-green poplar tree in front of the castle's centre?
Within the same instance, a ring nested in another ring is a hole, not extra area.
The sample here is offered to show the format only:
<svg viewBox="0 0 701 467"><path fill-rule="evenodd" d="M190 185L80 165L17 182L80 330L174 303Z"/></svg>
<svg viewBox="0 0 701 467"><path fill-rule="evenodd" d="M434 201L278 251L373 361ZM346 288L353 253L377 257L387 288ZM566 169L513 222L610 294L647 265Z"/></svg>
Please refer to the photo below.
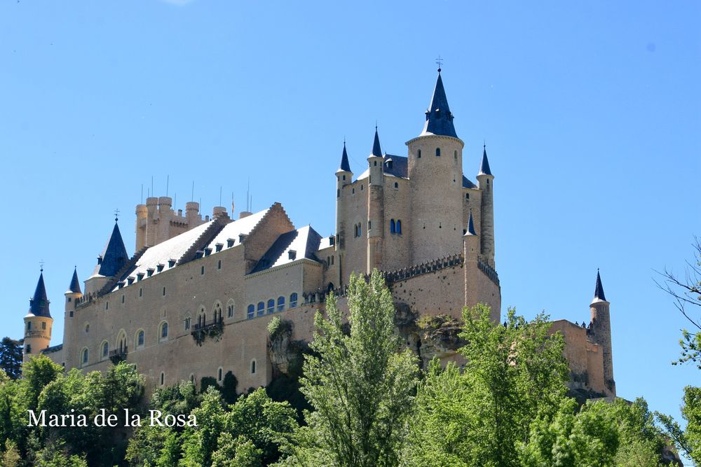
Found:
<svg viewBox="0 0 701 467"><path fill-rule="evenodd" d="M350 335L333 295L307 355L301 391L314 407L308 428L297 431L287 463L336 466L395 466L407 435L418 365L395 333L395 307L381 274L369 283L351 276Z"/></svg>

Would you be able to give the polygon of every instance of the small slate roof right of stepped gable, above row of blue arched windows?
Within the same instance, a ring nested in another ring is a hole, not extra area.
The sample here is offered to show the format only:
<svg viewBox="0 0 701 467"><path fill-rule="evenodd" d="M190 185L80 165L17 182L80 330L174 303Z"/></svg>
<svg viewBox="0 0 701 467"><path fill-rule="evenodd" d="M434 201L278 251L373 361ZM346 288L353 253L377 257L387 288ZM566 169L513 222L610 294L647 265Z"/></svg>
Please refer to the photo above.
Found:
<svg viewBox="0 0 701 467"><path fill-rule="evenodd" d="M320 262L319 258L315 255L315 251L318 251L320 243L321 235L311 228L311 225L285 232L283 235L280 235L270 249L266 251L263 257L258 261L258 264L251 271L251 274L268 270L271 267L292 263L292 261L301 258ZM290 251L296 253L294 258L290 258Z"/></svg>

